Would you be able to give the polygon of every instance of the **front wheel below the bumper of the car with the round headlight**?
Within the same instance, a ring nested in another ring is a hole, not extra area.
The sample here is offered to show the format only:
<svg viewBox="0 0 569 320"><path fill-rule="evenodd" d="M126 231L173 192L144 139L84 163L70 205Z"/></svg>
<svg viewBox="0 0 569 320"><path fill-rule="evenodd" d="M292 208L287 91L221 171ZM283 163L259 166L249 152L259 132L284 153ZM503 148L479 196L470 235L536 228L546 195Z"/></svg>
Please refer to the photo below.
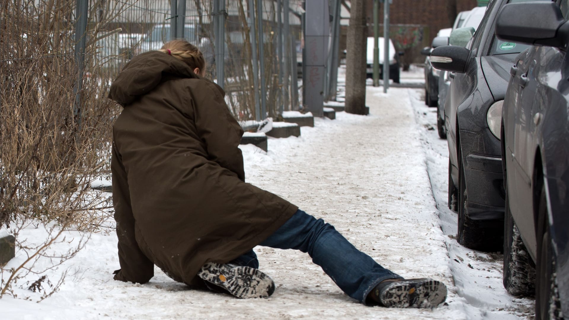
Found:
<svg viewBox="0 0 569 320"><path fill-rule="evenodd" d="M480 251L500 251L504 224L501 220L472 220L468 217L468 189L464 165L459 154L458 241L464 247Z"/></svg>

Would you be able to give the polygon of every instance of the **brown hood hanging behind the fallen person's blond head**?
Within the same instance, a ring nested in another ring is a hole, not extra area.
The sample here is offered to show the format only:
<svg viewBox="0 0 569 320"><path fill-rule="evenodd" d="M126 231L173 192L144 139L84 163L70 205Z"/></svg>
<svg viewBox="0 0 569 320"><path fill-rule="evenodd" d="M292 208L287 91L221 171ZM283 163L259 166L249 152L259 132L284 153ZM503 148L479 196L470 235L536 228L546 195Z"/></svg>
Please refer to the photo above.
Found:
<svg viewBox="0 0 569 320"><path fill-rule="evenodd" d="M145 52L125 65L110 86L109 98L125 106L173 78L201 79L189 65L170 55L160 51Z"/></svg>

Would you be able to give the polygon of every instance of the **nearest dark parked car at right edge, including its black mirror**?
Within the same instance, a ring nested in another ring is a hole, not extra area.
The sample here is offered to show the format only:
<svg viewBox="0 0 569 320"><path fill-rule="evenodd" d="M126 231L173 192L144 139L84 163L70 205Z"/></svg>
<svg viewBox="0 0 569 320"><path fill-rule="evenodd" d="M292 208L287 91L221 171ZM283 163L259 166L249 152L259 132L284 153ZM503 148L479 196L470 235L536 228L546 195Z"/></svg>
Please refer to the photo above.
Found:
<svg viewBox="0 0 569 320"><path fill-rule="evenodd" d="M512 3L496 23L497 47L538 44L509 70L501 126L504 287L535 292L537 320L569 315L569 1L556 2Z"/></svg>

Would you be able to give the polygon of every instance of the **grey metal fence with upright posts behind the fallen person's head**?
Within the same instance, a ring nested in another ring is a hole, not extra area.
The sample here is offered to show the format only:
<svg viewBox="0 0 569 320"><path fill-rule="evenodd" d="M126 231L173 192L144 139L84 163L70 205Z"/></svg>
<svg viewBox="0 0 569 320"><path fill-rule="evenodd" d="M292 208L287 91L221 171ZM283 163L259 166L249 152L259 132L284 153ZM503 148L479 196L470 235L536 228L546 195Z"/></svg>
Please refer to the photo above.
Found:
<svg viewBox="0 0 569 320"><path fill-rule="evenodd" d="M96 37L92 63L79 61L85 73L96 67L112 81L134 55L183 38L204 53L207 77L225 89L237 120L299 108L300 0L76 1L76 30Z"/></svg>

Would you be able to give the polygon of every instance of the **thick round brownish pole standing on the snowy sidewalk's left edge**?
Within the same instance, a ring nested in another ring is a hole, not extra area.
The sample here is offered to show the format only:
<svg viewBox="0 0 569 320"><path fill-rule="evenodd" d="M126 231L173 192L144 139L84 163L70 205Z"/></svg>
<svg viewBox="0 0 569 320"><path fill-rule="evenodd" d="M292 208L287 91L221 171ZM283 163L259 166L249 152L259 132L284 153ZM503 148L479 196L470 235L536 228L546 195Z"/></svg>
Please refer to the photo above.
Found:
<svg viewBox="0 0 569 320"><path fill-rule="evenodd" d="M346 102L348 113L365 114L366 0L352 0L346 55Z"/></svg>

